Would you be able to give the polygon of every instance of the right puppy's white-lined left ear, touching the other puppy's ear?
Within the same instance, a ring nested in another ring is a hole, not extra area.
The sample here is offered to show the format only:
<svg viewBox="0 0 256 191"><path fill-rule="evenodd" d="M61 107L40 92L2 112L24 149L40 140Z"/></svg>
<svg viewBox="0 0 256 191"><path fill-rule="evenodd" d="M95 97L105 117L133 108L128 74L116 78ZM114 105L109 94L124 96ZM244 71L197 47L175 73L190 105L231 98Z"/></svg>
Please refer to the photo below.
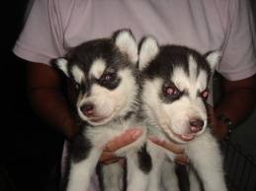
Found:
<svg viewBox="0 0 256 191"><path fill-rule="evenodd" d="M144 37L140 43L138 55L138 69L142 71L152 61L159 52L157 40L152 37Z"/></svg>

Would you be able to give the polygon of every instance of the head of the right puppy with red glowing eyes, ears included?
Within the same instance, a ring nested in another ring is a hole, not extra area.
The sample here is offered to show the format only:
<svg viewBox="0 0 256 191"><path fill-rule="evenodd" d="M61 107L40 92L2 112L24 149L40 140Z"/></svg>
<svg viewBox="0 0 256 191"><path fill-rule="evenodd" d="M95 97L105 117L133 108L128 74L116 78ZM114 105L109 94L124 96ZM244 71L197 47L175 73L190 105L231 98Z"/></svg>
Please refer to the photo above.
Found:
<svg viewBox="0 0 256 191"><path fill-rule="evenodd" d="M184 46L159 47L153 37L142 41L143 109L172 141L187 143L206 129L208 85L219 57L217 51L203 56Z"/></svg>

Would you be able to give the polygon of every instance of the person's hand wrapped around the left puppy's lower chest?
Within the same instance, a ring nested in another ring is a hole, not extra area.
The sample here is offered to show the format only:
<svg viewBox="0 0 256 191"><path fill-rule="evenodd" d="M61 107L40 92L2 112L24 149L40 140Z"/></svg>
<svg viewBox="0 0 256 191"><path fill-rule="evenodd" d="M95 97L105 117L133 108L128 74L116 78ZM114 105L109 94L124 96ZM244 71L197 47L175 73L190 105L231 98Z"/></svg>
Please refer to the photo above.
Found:
<svg viewBox="0 0 256 191"><path fill-rule="evenodd" d="M136 141L141 134L142 131L140 129L128 129L123 135L115 138L114 140L106 144L99 161L104 164L109 164L122 159L117 157L115 155L115 152Z"/></svg>

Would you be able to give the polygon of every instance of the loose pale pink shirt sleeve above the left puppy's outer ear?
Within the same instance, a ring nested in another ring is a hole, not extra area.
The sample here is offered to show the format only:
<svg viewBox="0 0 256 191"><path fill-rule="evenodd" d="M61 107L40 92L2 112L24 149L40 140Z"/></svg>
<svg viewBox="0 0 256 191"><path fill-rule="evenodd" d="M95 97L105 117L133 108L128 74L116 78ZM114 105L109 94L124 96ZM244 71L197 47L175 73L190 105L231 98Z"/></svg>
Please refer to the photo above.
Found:
<svg viewBox="0 0 256 191"><path fill-rule="evenodd" d="M35 0L13 52L28 61L49 64L64 54L63 22L55 0Z"/></svg>

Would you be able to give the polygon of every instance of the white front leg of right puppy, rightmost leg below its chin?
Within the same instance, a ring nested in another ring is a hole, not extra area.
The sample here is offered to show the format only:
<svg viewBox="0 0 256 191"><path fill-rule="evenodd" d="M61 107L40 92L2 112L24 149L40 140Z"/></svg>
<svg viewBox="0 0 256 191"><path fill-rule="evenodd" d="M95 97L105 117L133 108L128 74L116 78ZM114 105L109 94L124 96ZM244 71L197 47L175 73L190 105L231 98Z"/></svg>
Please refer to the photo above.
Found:
<svg viewBox="0 0 256 191"><path fill-rule="evenodd" d="M227 190L220 150L209 131L191 142L186 153L197 169L206 191Z"/></svg>

